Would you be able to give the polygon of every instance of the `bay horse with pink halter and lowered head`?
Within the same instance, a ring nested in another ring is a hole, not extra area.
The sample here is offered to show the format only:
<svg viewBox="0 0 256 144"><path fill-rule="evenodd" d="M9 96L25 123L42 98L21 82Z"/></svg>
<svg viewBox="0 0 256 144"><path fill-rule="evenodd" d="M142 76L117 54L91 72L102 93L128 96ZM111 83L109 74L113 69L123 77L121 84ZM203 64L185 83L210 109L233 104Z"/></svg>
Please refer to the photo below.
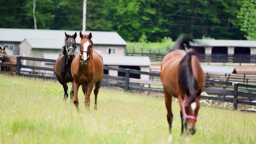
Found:
<svg viewBox="0 0 256 144"><path fill-rule="evenodd" d="M166 54L161 65L161 80L169 124L169 141L172 140L172 96L180 104L181 134L194 134L200 108L199 96L204 87L204 72L192 49L186 52L184 45L190 48L188 36L180 36L172 50Z"/></svg>

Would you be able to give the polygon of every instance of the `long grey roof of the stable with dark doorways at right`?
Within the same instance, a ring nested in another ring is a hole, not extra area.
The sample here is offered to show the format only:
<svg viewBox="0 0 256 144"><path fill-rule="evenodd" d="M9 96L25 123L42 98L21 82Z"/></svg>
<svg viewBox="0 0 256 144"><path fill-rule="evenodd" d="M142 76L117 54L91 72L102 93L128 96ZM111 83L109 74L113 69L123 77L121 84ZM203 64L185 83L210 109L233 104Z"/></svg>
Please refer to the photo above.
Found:
<svg viewBox="0 0 256 144"><path fill-rule="evenodd" d="M199 40L195 39L191 46L227 46L256 48L256 40Z"/></svg>

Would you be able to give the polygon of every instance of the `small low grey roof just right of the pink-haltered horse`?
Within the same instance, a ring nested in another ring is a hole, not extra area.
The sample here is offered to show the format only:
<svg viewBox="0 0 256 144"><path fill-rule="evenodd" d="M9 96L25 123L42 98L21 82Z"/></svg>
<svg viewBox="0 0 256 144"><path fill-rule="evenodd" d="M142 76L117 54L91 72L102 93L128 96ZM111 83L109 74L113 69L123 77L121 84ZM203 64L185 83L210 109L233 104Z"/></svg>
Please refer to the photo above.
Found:
<svg viewBox="0 0 256 144"><path fill-rule="evenodd" d="M212 73L225 73L225 74L236 74L236 68L234 66L212 66L212 65L202 65L203 71Z"/></svg>

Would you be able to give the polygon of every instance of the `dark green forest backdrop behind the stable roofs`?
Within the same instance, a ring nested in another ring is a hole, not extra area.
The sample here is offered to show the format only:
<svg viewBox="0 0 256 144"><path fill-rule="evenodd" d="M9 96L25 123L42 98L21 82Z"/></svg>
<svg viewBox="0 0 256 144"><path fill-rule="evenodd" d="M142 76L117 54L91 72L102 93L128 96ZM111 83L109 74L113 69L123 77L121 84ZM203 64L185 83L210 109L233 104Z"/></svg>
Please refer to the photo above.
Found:
<svg viewBox="0 0 256 144"><path fill-rule="evenodd" d="M253 22L239 25L242 31L236 25L242 20L237 17L241 6L249 14L245 18L255 21L250 15L255 3L248 10L246 4L248 0L87 0L86 30L115 31L129 42L176 40L180 34L241 40L244 32L252 37L247 33L255 28ZM34 28L32 0L3 0L0 6L1 28ZM38 29L82 29L83 0L37 0L35 12Z"/></svg>

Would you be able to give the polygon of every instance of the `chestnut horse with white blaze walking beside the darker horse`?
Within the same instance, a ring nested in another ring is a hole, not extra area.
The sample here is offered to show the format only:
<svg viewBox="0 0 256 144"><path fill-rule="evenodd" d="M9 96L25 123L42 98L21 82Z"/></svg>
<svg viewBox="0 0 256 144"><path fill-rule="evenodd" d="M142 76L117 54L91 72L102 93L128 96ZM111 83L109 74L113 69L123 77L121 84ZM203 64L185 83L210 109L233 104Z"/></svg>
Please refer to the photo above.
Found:
<svg viewBox="0 0 256 144"><path fill-rule="evenodd" d="M84 105L87 109L90 107L90 95L93 84L95 83L94 95L95 103L94 109L97 109L97 96L100 89L101 80L103 77L103 60L102 56L92 49L92 33L83 35L80 32L80 55L74 58L71 64L71 73L74 78L74 105L79 111L78 107L78 88L82 85L82 90L85 95Z"/></svg>

